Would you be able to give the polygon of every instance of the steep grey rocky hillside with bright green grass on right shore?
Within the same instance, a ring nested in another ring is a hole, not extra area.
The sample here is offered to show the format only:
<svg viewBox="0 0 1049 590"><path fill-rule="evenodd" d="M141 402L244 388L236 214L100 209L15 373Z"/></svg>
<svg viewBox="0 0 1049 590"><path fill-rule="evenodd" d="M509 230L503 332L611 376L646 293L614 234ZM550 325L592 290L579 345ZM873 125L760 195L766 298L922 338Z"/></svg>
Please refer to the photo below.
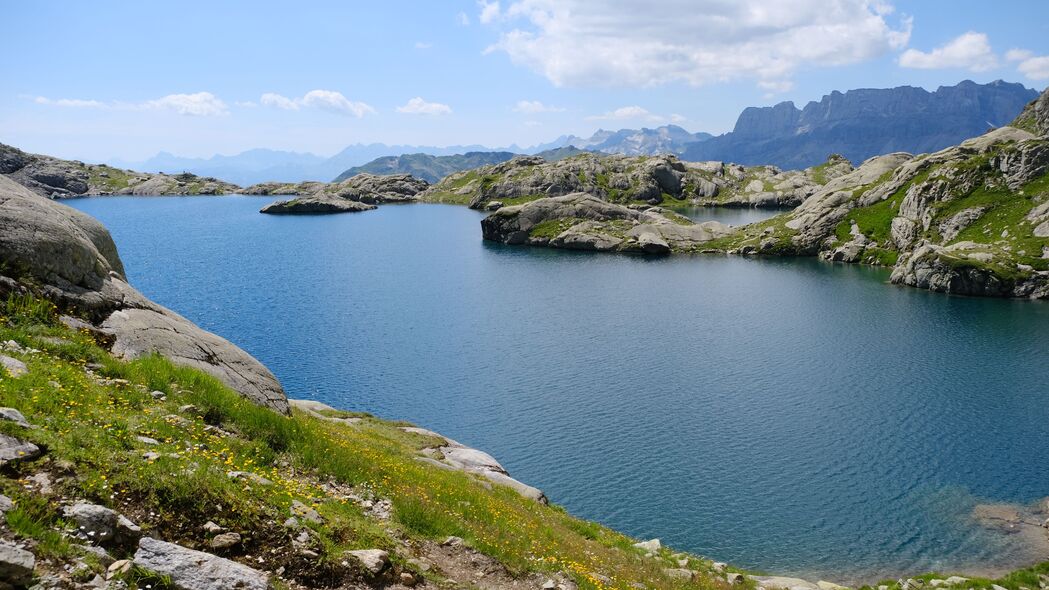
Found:
<svg viewBox="0 0 1049 590"><path fill-rule="evenodd" d="M1029 129L1049 91L1024 111ZM1021 121L1020 123L1024 123ZM893 153L744 228L734 252L894 267L932 291L1049 298L1049 135L1001 127L940 151Z"/></svg>

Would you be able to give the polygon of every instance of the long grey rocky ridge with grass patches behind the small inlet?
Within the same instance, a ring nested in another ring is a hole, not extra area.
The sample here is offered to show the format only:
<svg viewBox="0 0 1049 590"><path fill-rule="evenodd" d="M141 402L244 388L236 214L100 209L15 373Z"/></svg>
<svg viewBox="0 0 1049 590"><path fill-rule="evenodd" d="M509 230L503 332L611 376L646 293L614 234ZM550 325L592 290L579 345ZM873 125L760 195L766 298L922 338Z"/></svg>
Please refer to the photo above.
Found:
<svg viewBox="0 0 1049 590"><path fill-rule="evenodd" d="M558 162L519 156L451 174L420 198L487 209L494 202L585 192L623 204L793 207L829 180L851 170L852 165L839 156L808 170L786 172L773 166L688 163L672 155L583 153Z"/></svg>

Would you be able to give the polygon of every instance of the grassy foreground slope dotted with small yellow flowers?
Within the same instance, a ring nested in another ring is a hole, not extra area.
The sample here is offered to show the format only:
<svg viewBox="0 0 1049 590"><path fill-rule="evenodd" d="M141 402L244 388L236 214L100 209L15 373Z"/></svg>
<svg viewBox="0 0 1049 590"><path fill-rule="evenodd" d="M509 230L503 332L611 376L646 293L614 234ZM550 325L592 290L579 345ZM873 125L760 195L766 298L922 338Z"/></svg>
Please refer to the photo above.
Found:
<svg viewBox="0 0 1049 590"><path fill-rule="evenodd" d="M0 340L8 339L41 352L14 354L26 362L29 374L0 376L0 406L19 408L39 427L6 422L0 430L36 442L47 455L8 466L0 475L0 488L18 501L8 514L12 531L35 540L41 553L58 557L74 548L52 534L65 526L56 501L31 499L19 482L30 472L60 468L74 473L55 478L63 497L108 505L149 534L192 548L206 548L201 526L214 521L244 538L229 556L258 567L261 555L267 568L281 565L293 576L339 575L346 567L340 564L346 549L383 548L403 563L398 538L454 534L513 572L563 571L586 589L719 586L708 575L694 582L670 580L663 572L676 567L668 552L642 559L625 535L510 488L418 461L418 450L433 441L403 431L402 423L365 414L349 415L361 418L356 425L298 413L280 416L207 374L163 358L114 359L89 334L55 321L49 304L31 298L0 305ZM90 374L85 371L89 365ZM166 399L154 399L152 391ZM194 407L180 412L187 404ZM144 444L140 436L158 444ZM256 473L272 484L231 479L229 471ZM352 500L329 492L328 485L362 498L389 499L393 520L367 515ZM324 517L323 524L312 525L320 552L315 562L282 552L287 533L280 523L294 501ZM693 560L697 568L709 565ZM144 574L127 578L135 575Z"/></svg>

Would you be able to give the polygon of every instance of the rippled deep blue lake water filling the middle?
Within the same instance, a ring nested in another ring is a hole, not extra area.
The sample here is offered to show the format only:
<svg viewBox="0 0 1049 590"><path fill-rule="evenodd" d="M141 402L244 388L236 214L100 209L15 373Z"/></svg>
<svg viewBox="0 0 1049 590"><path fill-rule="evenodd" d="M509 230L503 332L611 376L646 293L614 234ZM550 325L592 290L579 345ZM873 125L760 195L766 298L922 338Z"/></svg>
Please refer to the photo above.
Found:
<svg viewBox="0 0 1049 590"><path fill-rule="evenodd" d="M1049 496L1049 304L807 259L505 247L453 206L269 201L68 204L291 397L489 450L577 515L843 582L1049 559L970 518Z"/></svg>

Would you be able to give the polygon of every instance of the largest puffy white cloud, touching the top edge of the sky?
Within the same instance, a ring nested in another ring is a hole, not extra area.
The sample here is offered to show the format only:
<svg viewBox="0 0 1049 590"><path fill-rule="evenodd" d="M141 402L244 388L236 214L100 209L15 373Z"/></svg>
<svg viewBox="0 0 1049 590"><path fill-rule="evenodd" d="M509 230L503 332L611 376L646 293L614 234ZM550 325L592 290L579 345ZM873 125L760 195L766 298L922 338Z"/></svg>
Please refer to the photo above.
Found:
<svg viewBox="0 0 1049 590"><path fill-rule="evenodd" d="M891 25L869 0L516 0L481 16L500 26L486 51L505 51L558 86L782 83L799 67L873 59L906 45L911 20ZM498 18L496 18L498 17Z"/></svg>

